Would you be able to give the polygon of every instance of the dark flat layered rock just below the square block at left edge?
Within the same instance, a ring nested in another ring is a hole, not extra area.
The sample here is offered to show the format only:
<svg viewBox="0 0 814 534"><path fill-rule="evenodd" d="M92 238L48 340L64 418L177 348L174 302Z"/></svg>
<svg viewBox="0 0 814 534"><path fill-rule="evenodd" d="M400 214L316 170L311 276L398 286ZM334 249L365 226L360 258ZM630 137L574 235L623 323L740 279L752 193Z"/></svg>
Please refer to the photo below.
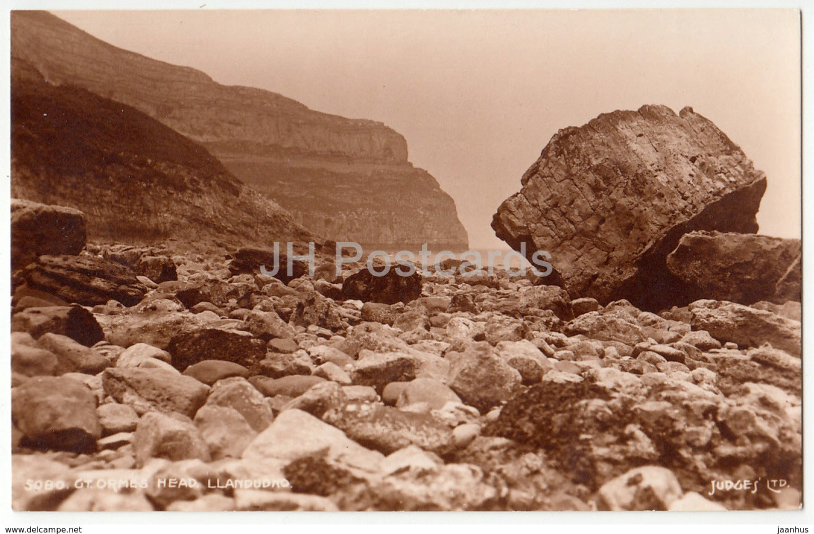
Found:
<svg viewBox="0 0 814 534"><path fill-rule="evenodd" d="M133 306L147 293L128 267L96 256L40 256L25 267L22 278L33 289L83 306L110 300Z"/></svg>

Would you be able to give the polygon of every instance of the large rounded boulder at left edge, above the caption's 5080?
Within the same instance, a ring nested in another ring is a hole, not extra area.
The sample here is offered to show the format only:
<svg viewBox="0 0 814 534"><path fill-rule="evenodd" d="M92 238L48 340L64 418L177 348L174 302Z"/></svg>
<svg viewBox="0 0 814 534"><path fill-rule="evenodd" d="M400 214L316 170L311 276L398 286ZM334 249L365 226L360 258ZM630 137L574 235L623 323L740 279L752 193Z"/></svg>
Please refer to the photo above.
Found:
<svg viewBox="0 0 814 534"><path fill-rule="evenodd" d="M96 396L64 377L36 376L12 389L11 419L36 448L92 452L102 436Z"/></svg>

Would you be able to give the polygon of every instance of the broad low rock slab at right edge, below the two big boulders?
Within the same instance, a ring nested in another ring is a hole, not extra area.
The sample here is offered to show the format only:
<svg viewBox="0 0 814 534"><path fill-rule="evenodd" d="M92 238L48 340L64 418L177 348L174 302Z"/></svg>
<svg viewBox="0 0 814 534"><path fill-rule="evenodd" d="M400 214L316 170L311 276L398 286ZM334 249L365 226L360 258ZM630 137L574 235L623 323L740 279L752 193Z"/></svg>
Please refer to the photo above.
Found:
<svg viewBox="0 0 814 534"><path fill-rule="evenodd" d="M770 343L798 358L801 324L767 310L758 310L734 302L700 300L689 305L690 324L694 330L706 330L718 341L732 341L742 347L759 347Z"/></svg>

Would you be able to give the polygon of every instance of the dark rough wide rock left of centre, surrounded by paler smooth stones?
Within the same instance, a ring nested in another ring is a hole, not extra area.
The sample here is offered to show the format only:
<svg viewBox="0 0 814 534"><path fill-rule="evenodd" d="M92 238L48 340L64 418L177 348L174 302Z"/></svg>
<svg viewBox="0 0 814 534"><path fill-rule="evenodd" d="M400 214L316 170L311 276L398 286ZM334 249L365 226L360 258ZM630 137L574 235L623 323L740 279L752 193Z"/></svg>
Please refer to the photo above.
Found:
<svg viewBox="0 0 814 534"><path fill-rule="evenodd" d="M265 342L241 330L196 328L179 332L169 342L167 351L173 355L173 367L178 371L204 360L225 360L252 367L265 358Z"/></svg>

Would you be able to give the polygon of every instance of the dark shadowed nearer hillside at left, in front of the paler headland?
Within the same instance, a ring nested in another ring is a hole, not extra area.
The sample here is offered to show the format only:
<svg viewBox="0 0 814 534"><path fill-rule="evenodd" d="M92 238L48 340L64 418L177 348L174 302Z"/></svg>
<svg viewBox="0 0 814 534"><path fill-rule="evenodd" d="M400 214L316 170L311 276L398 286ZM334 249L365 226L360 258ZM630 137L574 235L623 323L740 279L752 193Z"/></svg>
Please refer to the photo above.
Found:
<svg viewBox="0 0 814 534"><path fill-rule="evenodd" d="M85 212L94 241L321 241L194 141L14 57L11 196Z"/></svg>

